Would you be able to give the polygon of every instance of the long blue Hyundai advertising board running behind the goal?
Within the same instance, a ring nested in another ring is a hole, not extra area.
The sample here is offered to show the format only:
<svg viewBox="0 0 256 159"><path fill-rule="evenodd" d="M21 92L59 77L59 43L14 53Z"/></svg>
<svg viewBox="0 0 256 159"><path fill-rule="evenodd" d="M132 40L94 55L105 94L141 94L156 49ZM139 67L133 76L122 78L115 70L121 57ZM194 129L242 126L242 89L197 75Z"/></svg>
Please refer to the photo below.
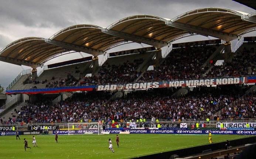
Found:
<svg viewBox="0 0 256 159"><path fill-rule="evenodd" d="M256 135L256 131L248 130L169 130L169 129L120 129L120 130L102 130L102 133L119 134L120 132L129 132L130 134L199 134L208 135L209 133L214 134L226 134L226 135ZM92 130L54 130L53 134L85 134L93 133L97 134L98 129Z"/></svg>

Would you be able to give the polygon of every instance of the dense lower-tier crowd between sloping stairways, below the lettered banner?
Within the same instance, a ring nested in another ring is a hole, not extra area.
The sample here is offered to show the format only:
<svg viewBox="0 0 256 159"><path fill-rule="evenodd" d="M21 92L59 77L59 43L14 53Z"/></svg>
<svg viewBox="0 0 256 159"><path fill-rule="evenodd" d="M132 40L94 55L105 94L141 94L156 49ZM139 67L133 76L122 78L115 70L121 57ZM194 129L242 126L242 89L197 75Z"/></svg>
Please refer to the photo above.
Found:
<svg viewBox="0 0 256 159"><path fill-rule="evenodd" d="M93 118L126 119L206 119L239 97L240 87L219 86L209 90L196 87L185 96L170 97L173 90L162 88L138 91L109 101L92 114ZM220 93L221 92L221 93Z"/></svg>

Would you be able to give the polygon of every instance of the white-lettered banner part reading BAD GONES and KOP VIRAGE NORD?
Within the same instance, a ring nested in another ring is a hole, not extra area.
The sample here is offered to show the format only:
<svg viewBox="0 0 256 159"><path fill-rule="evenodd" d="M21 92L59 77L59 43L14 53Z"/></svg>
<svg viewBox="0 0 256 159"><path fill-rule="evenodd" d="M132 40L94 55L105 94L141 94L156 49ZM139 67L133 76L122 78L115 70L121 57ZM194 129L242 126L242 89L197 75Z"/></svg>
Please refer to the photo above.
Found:
<svg viewBox="0 0 256 159"><path fill-rule="evenodd" d="M127 84L108 84L96 86L97 91L104 90L139 90L146 88L164 88L164 87L185 87L185 86L211 86L239 83L256 83L256 77L231 77L216 79L198 79L198 80L176 80L164 82L144 82Z"/></svg>

